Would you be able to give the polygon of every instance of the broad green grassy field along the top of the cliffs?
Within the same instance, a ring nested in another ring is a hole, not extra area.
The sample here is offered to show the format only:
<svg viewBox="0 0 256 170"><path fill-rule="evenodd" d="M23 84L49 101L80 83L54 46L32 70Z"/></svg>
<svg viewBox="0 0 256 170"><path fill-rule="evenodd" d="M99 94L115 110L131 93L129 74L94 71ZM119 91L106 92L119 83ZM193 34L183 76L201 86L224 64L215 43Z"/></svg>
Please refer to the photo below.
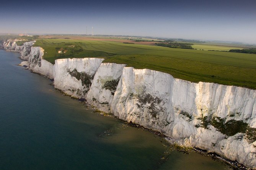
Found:
<svg viewBox="0 0 256 170"><path fill-rule="evenodd" d="M44 58L104 58L104 62L153 69L191 82L215 82L256 89L256 55L188 50L106 40L41 39ZM60 53L59 53L60 51Z"/></svg>

